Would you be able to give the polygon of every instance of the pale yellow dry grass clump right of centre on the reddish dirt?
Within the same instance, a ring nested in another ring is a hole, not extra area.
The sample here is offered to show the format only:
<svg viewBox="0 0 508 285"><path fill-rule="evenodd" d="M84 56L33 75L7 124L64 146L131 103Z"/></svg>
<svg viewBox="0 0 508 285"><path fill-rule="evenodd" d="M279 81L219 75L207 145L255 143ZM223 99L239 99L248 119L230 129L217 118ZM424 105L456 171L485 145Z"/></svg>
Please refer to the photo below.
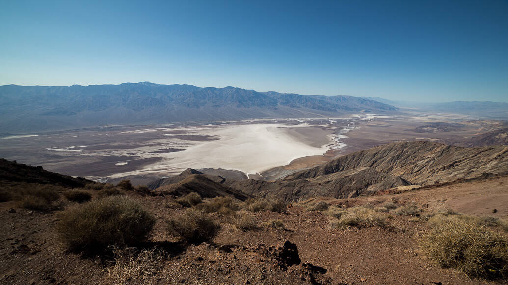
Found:
<svg viewBox="0 0 508 285"><path fill-rule="evenodd" d="M347 226L353 227L371 227L386 225L388 216L382 212L365 207L352 207L343 213L340 219L332 219L330 227L332 228L345 228Z"/></svg>

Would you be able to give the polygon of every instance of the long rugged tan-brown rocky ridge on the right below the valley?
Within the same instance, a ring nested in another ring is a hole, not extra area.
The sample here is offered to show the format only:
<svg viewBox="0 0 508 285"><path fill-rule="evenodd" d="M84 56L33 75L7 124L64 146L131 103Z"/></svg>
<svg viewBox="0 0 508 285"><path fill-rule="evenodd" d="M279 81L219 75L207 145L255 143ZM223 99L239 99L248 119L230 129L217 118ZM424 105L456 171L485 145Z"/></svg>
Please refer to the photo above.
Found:
<svg viewBox="0 0 508 285"><path fill-rule="evenodd" d="M431 185L508 171L508 147L461 148L429 141L396 142L349 154L284 179L229 181L263 197L300 201L357 197L404 185Z"/></svg>

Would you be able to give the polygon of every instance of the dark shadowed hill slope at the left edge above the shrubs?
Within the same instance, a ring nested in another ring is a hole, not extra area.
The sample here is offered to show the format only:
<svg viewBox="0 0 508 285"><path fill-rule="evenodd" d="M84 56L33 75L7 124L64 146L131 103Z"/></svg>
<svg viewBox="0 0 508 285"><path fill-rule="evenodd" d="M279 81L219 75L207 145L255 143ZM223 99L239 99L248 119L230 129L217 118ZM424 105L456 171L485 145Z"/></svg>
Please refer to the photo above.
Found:
<svg viewBox="0 0 508 285"><path fill-rule="evenodd" d="M0 158L0 182L26 182L53 184L64 187L84 187L93 181L83 177L71 177L42 169L42 166L30 166L16 161Z"/></svg>

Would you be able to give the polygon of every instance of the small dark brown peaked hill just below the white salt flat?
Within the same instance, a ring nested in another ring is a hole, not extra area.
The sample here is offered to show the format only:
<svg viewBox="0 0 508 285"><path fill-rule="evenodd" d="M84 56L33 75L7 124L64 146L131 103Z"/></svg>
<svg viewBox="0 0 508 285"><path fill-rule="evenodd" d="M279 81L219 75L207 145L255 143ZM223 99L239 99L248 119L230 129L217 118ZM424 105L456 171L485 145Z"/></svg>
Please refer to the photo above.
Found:
<svg viewBox="0 0 508 285"><path fill-rule="evenodd" d="M154 190L158 195L182 196L188 193L196 192L203 198L213 198L217 196L233 197L245 201L250 196L241 191L232 189L212 181L200 174L190 174L181 181L169 185L163 185Z"/></svg>

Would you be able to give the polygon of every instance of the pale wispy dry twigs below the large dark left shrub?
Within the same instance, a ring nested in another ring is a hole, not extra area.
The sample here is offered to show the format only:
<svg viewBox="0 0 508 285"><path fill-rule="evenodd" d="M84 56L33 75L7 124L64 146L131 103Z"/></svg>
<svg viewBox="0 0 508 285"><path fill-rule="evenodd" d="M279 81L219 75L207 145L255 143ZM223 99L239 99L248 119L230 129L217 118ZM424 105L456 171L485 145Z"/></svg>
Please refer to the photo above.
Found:
<svg viewBox="0 0 508 285"><path fill-rule="evenodd" d="M114 265L108 268L106 278L114 285L144 283L150 275L157 272L157 266L166 258L163 250L152 248L139 251L135 247L113 250Z"/></svg>

